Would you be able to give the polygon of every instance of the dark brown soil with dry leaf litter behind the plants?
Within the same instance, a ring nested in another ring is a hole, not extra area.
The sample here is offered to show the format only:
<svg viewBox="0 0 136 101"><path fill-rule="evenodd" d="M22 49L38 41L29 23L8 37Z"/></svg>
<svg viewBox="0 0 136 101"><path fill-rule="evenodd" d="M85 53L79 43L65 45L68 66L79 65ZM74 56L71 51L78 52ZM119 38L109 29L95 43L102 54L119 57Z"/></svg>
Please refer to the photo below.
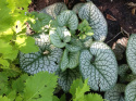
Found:
<svg viewBox="0 0 136 101"><path fill-rule="evenodd" d="M132 2L136 4L136 0L91 1L103 13L108 22L108 36L104 42L112 49L114 49L113 45L121 45L125 49L129 35L136 34L136 7L128 5ZM74 4L78 2L86 2L86 0L33 0L33 3L29 5L29 12L39 11L55 2L65 2L69 9L72 9ZM121 53L124 56L122 60L118 61L119 64L126 63L125 50L120 46L116 48L121 48L121 50L123 50Z"/></svg>

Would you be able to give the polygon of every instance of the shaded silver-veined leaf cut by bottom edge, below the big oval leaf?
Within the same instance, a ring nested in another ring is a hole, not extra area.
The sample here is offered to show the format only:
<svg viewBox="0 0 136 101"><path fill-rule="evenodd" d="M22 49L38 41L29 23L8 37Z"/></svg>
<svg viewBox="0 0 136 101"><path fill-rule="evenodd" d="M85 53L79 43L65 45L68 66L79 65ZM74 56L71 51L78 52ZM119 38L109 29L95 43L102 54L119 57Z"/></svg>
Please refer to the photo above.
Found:
<svg viewBox="0 0 136 101"><path fill-rule="evenodd" d="M109 101L125 101L123 96L125 87L123 84L116 84L112 89L104 92L104 99Z"/></svg>

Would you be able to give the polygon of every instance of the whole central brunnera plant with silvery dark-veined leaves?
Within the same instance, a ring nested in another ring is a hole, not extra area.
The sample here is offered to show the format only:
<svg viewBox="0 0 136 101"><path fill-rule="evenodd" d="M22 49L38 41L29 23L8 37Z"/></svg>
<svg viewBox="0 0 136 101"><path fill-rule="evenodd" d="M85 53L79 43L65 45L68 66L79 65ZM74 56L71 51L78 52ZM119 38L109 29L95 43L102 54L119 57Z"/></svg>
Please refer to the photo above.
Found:
<svg viewBox="0 0 136 101"><path fill-rule="evenodd" d="M46 33L34 35L40 51L20 53L21 68L28 74L55 73L58 84L66 92L79 77L88 78L92 90L112 88L118 79L118 63L112 50L102 42L107 37L107 22L96 5L83 4L78 9L79 17L64 3L52 4L41 12L52 20L46 25Z"/></svg>

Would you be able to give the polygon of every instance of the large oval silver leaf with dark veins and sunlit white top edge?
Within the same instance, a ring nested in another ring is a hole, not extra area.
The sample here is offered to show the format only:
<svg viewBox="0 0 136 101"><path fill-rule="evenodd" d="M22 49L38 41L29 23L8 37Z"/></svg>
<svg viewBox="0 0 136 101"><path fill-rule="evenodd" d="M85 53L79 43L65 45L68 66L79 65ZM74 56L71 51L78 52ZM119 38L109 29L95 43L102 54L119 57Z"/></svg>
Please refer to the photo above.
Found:
<svg viewBox="0 0 136 101"><path fill-rule="evenodd" d="M103 42L92 42L90 50L83 50L79 56L79 70L84 79L94 90L106 91L118 79L118 63L114 53Z"/></svg>

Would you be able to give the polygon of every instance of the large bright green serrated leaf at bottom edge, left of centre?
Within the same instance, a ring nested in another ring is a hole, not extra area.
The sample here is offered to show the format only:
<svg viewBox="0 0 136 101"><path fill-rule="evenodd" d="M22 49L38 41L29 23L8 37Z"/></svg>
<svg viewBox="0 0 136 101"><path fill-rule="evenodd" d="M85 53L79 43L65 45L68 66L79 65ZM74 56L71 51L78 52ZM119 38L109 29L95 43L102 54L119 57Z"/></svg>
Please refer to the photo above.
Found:
<svg viewBox="0 0 136 101"><path fill-rule="evenodd" d="M44 77L44 78L42 78ZM26 79L24 88L24 101L52 101L53 90L58 77L48 72L40 72Z"/></svg>

